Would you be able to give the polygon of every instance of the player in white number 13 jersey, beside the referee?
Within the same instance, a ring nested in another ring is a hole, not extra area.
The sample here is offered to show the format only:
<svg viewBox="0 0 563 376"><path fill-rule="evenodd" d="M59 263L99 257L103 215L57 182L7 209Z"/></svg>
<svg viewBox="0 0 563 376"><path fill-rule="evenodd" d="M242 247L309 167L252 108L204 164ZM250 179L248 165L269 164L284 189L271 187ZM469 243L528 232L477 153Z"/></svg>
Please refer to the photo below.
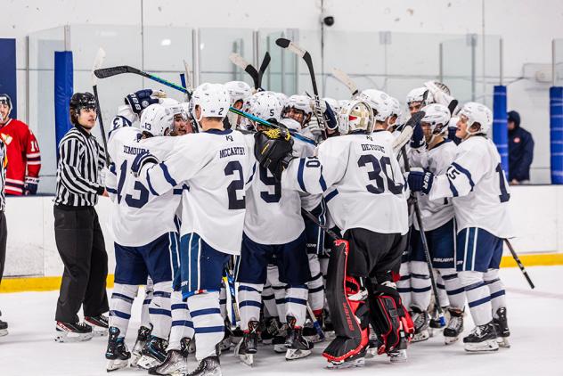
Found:
<svg viewBox="0 0 563 376"><path fill-rule="evenodd" d="M170 263L171 259L175 260L170 253L178 244L173 213L181 196L170 191L157 200L149 200L149 188L129 173L129 167L143 151L151 151L160 158L167 156L171 139L162 136L169 134L173 122L174 113L170 108L151 104L143 110L140 129L120 127L113 129L110 135L109 153L113 164L106 184L114 203L111 223L115 234L116 271L106 351L108 371L126 366L131 356L125 344L131 306L138 285L144 284L149 275L153 282L149 306L152 331L138 364L149 369L162 363L166 356L171 325Z"/></svg>

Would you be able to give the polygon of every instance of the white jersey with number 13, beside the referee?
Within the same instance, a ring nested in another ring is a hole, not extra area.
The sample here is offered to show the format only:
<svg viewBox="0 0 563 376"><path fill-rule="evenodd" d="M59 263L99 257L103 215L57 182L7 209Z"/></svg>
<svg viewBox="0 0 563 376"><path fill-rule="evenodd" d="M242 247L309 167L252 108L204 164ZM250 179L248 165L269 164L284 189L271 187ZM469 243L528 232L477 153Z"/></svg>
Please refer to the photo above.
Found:
<svg viewBox="0 0 563 376"><path fill-rule="evenodd" d="M156 200L149 200L146 184L131 173L135 156L150 151L159 159L167 158L171 137L140 139L141 130L119 127L111 132L108 151L113 164L106 186L113 200L111 227L115 241L122 246L139 247L164 233L175 232L175 211L180 204L182 187L171 190Z"/></svg>

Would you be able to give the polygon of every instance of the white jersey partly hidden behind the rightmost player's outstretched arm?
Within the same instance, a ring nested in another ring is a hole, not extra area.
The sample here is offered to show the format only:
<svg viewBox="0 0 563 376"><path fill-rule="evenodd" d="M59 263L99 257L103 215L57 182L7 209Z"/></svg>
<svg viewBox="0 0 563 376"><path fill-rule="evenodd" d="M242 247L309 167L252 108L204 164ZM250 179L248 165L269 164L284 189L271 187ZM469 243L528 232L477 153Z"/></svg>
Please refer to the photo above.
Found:
<svg viewBox="0 0 563 376"><path fill-rule="evenodd" d="M426 146L412 149L409 159L412 168L424 168L434 175L442 175L450 167L456 155L456 144L445 140L430 150ZM419 194L418 201L425 231L435 230L453 218L452 199L429 200L428 195ZM417 230L420 230L416 220L413 221L413 225Z"/></svg>

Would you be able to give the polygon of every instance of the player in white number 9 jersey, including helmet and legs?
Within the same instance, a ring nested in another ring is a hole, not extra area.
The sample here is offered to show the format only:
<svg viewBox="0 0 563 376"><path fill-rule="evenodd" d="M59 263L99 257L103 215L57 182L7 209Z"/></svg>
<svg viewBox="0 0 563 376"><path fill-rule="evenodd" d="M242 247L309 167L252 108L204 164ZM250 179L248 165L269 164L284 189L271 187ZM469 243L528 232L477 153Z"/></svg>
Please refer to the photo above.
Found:
<svg viewBox="0 0 563 376"><path fill-rule="evenodd" d="M282 103L277 96L271 92L255 95L250 113L261 119L279 121ZM309 356L313 348L313 344L302 335L306 320L306 282L310 280L311 272L306 257L305 224L301 217L299 193L283 190L270 171L259 164L255 175L246 198L247 213L237 265L239 310L244 335L235 348L235 354L246 364L253 363L253 354L257 352L261 298L269 263L274 263L279 271L279 281L272 282L273 287L285 287L287 284L286 359Z"/></svg>

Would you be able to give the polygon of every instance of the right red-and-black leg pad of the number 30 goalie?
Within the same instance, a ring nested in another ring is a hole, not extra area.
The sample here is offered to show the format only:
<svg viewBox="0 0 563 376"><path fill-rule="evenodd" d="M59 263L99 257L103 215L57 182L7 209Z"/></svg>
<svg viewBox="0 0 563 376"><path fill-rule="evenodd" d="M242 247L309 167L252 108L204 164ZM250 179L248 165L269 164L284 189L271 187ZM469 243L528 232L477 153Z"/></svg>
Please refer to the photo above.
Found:
<svg viewBox="0 0 563 376"><path fill-rule="evenodd" d="M370 311L371 325L383 343L379 354L405 349L414 334L414 325L396 289L378 285L370 298Z"/></svg>

